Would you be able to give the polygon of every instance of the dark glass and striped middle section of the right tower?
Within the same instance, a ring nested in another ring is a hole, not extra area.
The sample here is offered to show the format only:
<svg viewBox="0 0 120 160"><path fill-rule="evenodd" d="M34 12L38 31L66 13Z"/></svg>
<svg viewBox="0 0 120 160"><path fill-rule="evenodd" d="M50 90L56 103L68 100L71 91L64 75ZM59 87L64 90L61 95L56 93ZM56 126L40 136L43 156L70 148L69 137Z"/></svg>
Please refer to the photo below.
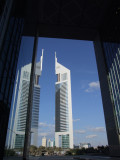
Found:
<svg viewBox="0 0 120 160"><path fill-rule="evenodd" d="M67 82L56 84L56 132L69 130Z"/></svg>

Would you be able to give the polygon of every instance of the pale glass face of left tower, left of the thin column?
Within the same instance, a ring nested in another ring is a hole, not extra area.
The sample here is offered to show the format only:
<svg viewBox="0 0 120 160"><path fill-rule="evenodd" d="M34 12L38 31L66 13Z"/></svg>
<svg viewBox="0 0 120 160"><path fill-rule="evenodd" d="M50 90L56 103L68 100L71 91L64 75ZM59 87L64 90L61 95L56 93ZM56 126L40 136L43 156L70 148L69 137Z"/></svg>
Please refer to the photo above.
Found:
<svg viewBox="0 0 120 160"><path fill-rule="evenodd" d="M30 83L31 64L21 68L19 90L16 103L16 114L10 148L23 148L26 128L26 115L28 107L29 83ZM22 139L21 139L22 138Z"/></svg>

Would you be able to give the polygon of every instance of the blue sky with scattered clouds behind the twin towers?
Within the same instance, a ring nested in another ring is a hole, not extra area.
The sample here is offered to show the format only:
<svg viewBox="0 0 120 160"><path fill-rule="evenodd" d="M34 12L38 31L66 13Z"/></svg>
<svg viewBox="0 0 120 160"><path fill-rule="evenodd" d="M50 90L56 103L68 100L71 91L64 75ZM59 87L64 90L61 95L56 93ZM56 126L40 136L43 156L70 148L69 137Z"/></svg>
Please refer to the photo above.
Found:
<svg viewBox="0 0 120 160"><path fill-rule="evenodd" d="M33 38L23 37L18 68L31 62ZM54 139L55 51L58 62L71 70L74 144L107 145L99 79L93 42L39 38L37 61L44 48L40 77L39 139Z"/></svg>

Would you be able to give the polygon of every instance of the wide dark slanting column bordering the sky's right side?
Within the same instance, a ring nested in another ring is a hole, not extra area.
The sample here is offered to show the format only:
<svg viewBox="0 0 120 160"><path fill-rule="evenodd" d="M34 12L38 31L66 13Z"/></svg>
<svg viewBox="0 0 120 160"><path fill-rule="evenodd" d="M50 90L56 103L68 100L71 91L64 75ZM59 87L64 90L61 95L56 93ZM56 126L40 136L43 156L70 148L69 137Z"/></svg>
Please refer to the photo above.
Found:
<svg viewBox="0 0 120 160"><path fill-rule="evenodd" d="M116 119L114 116L114 107L110 97L110 90L107 78L107 69L104 57L104 50L99 36L94 41L96 62L99 74L100 88L102 94L103 110L105 116L108 144L110 147L110 155L120 156L120 142L116 127Z"/></svg>

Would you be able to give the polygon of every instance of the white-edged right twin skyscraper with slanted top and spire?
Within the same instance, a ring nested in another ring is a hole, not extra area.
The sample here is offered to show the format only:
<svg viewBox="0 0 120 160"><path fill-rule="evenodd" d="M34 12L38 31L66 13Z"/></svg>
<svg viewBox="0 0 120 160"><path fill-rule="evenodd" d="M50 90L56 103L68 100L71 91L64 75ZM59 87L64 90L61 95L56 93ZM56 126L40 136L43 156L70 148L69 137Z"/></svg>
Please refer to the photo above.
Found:
<svg viewBox="0 0 120 160"><path fill-rule="evenodd" d="M57 62L55 53L55 146L73 148L70 70Z"/></svg>

